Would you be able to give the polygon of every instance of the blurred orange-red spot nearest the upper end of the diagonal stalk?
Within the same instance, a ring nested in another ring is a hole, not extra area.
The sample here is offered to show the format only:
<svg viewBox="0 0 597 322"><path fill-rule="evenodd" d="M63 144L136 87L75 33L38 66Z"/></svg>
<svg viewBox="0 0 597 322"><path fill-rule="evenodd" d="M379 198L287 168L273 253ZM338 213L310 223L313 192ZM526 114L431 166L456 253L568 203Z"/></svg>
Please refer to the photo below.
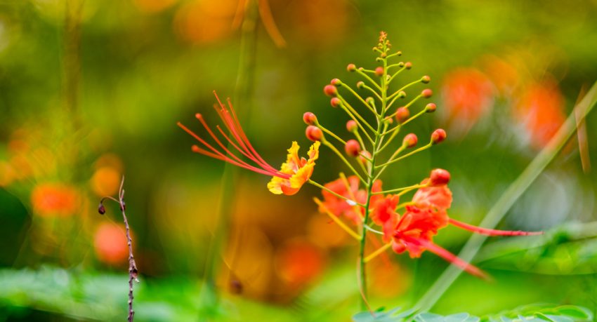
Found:
<svg viewBox="0 0 597 322"><path fill-rule="evenodd" d="M521 95L514 116L525 124L533 147L544 147L566 120L564 98L552 80L533 83Z"/></svg>

